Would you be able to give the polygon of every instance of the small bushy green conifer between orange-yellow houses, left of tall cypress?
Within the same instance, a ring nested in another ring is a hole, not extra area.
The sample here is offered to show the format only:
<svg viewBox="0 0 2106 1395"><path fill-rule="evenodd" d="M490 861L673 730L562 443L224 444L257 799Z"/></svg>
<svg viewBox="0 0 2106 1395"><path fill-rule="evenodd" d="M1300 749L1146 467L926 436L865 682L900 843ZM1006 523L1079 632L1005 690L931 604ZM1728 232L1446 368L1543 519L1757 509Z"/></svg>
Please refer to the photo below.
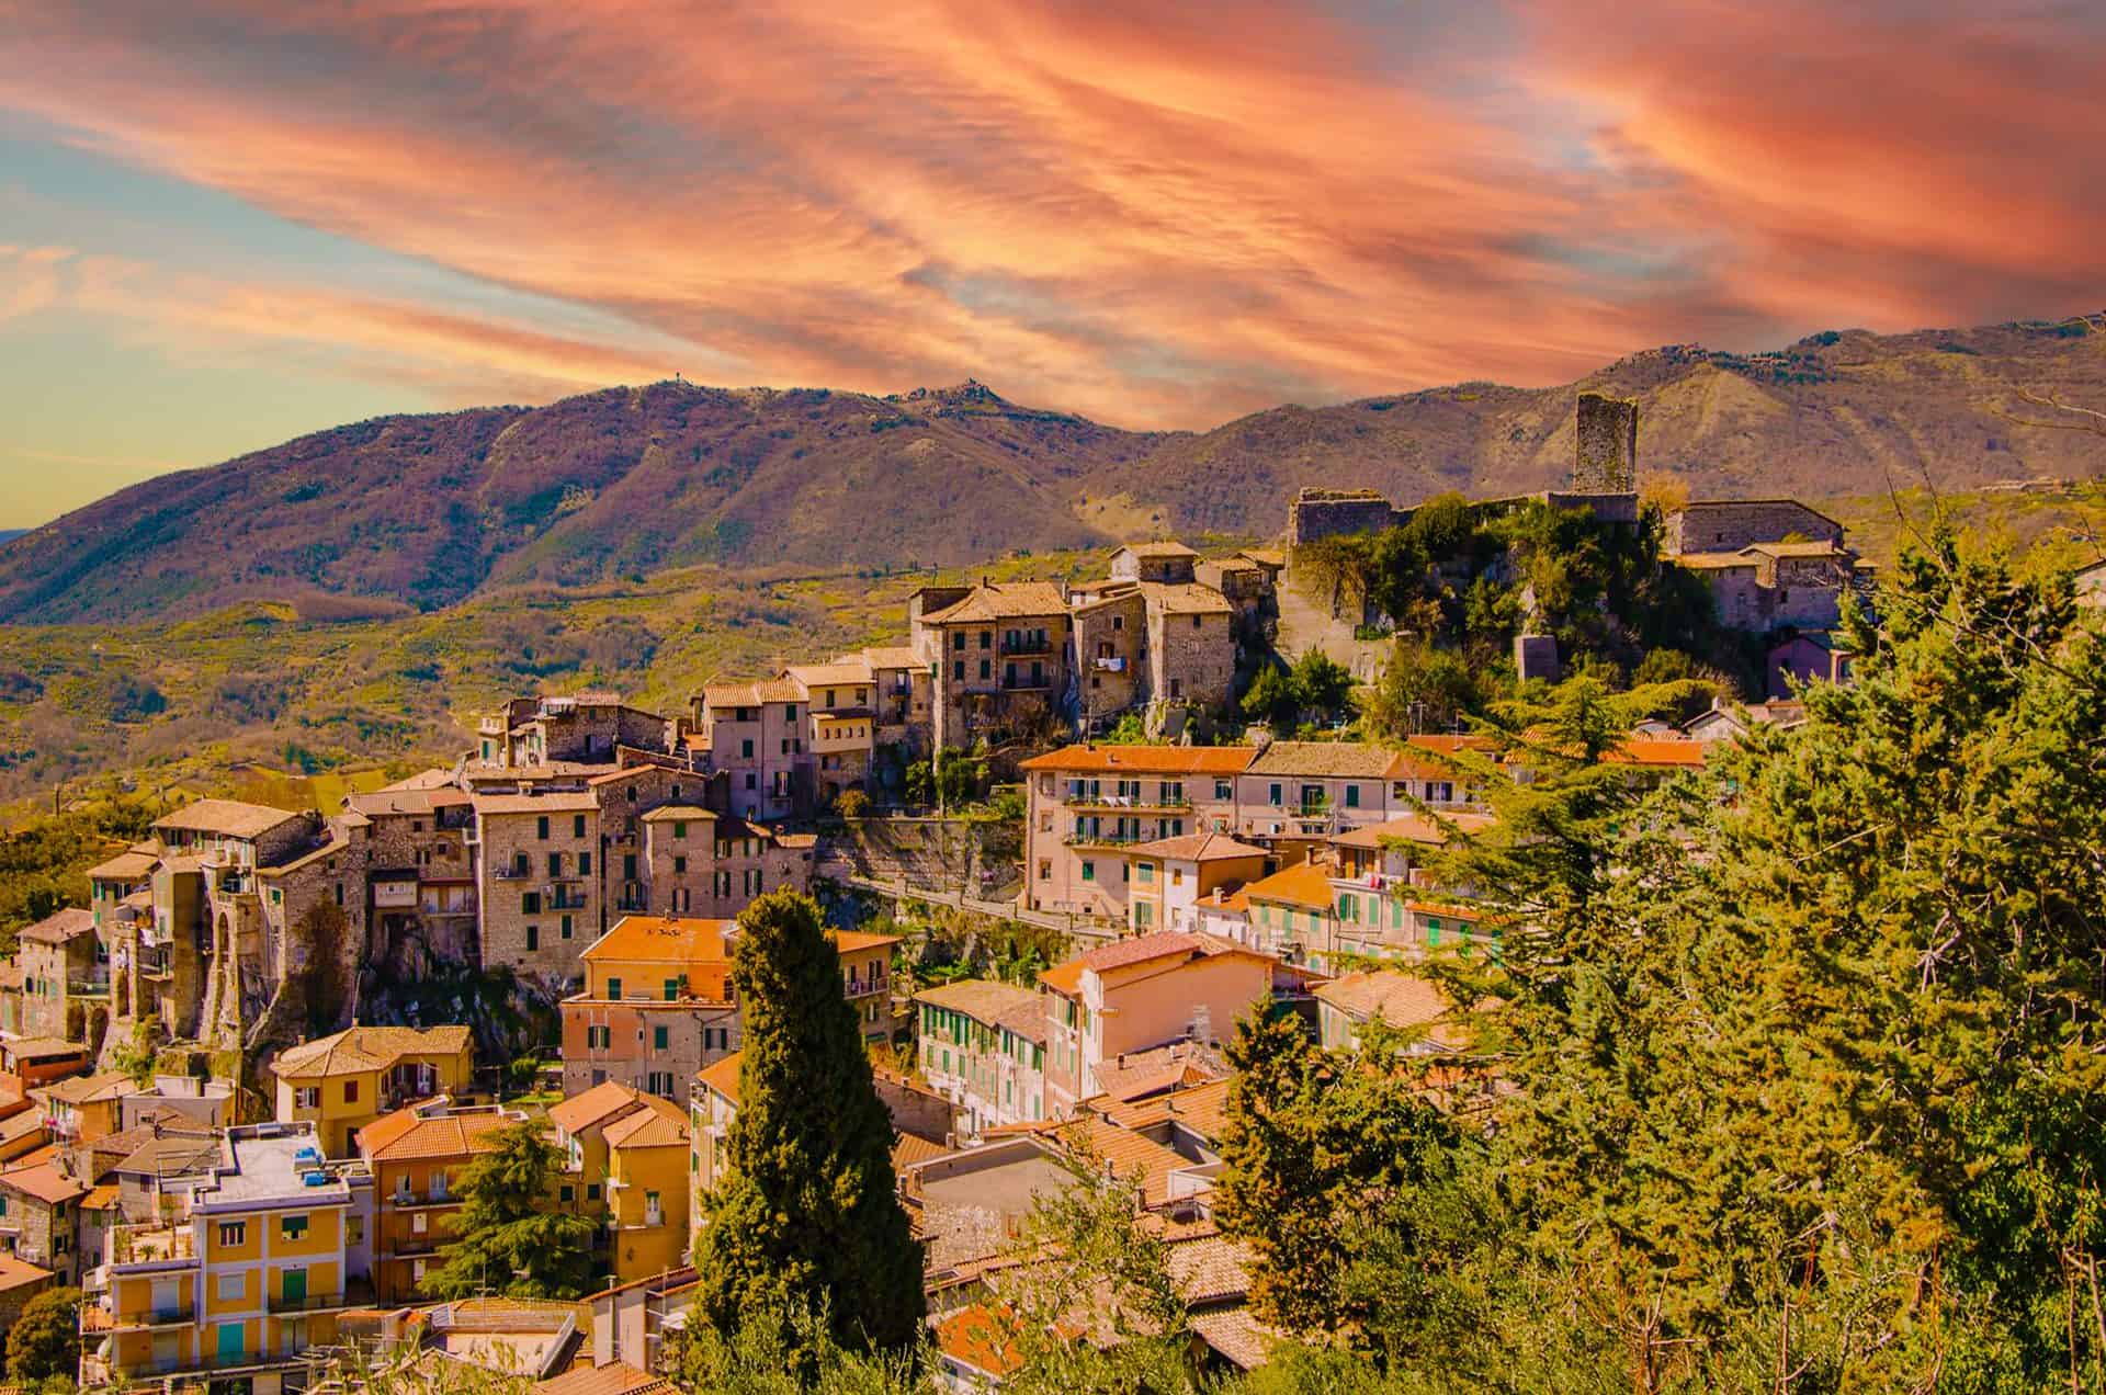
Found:
<svg viewBox="0 0 2106 1395"><path fill-rule="evenodd" d="M548 1210L562 1153L537 1123L497 1132L461 1176L453 1239L425 1275L434 1298L579 1298L592 1285L592 1222Z"/></svg>

